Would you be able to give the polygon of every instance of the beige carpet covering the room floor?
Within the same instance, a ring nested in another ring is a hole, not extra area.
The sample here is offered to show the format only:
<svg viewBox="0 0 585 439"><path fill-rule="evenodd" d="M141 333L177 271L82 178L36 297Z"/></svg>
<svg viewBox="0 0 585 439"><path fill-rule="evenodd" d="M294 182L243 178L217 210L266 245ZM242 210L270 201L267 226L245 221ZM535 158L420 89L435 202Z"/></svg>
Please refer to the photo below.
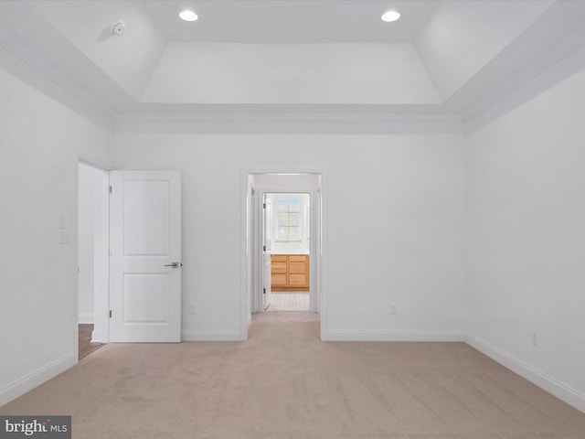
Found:
<svg viewBox="0 0 585 439"><path fill-rule="evenodd" d="M325 343L313 313L254 316L246 342L110 344L0 413L70 414L80 439L585 437L463 343Z"/></svg>

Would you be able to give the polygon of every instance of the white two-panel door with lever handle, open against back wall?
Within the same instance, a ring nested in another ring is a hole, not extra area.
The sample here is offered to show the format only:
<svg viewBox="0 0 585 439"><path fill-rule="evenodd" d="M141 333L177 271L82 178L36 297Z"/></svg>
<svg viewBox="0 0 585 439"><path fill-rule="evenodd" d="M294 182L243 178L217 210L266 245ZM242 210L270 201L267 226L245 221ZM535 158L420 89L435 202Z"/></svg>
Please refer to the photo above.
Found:
<svg viewBox="0 0 585 439"><path fill-rule="evenodd" d="M110 341L181 341L181 176L112 171Z"/></svg>

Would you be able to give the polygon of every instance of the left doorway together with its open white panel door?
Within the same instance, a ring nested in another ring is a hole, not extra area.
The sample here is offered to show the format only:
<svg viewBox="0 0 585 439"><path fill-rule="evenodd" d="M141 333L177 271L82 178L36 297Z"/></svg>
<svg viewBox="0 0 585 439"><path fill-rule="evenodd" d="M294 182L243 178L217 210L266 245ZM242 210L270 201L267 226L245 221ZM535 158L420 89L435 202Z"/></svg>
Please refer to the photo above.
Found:
<svg viewBox="0 0 585 439"><path fill-rule="evenodd" d="M78 171L78 341L180 341L180 172Z"/></svg>

